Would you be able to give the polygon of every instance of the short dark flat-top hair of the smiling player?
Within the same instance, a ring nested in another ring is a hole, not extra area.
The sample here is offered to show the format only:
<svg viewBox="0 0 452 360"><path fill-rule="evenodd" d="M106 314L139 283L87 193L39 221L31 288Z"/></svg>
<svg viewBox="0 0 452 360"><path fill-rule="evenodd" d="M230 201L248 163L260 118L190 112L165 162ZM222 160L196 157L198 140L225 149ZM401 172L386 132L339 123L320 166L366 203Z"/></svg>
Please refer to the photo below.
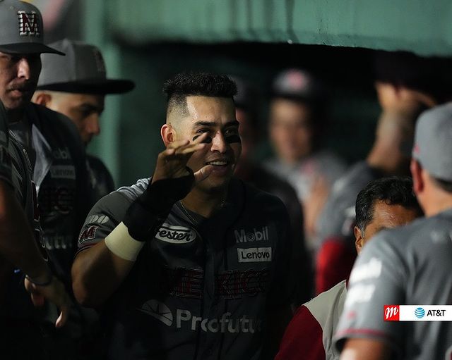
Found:
<svg viewBox="0 0 452 360"><path fill-rule="evenodd" d="M179 73L165 82L167 111L178 106L186 112L186 97L227 97L234 99L237 85L227 75L214 73Z"/></svg>

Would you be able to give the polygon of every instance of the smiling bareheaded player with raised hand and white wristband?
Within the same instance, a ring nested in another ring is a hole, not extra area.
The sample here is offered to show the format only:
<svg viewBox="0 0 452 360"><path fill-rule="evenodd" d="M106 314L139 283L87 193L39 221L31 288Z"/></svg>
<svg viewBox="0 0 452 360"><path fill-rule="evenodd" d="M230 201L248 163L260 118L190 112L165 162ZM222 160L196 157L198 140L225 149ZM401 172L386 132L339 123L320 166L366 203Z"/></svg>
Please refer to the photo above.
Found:
<svg viewBox="0 0 452 360"><path fill-rule="evenodd" d="M103 197L85 221L73 290L103 306L108 359L275 354L290 318L287 212L232 178L236 91L225 75L169 80L153 177Z"/></svg>

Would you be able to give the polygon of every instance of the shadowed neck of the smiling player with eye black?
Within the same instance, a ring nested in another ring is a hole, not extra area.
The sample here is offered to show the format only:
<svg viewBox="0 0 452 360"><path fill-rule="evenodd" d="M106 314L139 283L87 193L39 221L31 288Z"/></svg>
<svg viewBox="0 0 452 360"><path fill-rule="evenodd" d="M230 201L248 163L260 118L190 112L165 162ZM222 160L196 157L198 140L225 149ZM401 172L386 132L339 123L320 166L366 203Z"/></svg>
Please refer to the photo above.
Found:
<svg viewBox="0 0 452 360"><path fill-rule="evenodd" d="M182 205L194 213L198 213L205 218L210 218L210 216L213 216L215 212L222 208L225 204L226 197L227 187L224 190L215 192L203 192L194 188L182 199Z"/></svg>

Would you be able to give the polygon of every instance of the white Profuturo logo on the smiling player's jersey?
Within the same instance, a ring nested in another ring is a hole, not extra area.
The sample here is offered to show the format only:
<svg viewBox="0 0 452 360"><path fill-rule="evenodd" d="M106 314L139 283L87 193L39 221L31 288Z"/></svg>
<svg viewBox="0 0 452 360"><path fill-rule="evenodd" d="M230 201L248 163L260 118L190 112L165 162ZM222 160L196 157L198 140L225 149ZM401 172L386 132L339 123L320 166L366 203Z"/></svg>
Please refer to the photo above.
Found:
<svg viewBox="0 0 452 360"><path fill-rule="evenodd" d="M172 311L157 300L148 300L139 309L143 313L153 316L167 326L174 325ZM197 331L201 328L205 333L256 333L262 330L262 321L259 319L249 318L243 315L241 318L231 318L231 313L226 312L219 318L202 318L201 316L193 316L191 311L186 309L176 310L176 328L188 328Z"/></svg>

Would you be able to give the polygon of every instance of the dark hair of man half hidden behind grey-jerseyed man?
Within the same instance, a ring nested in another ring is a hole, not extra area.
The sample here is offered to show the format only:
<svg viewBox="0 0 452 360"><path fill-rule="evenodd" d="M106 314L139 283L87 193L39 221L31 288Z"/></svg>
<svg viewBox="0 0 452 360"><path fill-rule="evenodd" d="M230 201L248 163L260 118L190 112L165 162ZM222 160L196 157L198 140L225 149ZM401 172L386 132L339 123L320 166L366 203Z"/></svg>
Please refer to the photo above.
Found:
<svg viewBox="0 0 452 360"><path fill-rule="evenodd" d="M415 210L420 216L422 209L412 189L412 179L400 176L380 178L369 182L356 198L356 225L364 236L364 229L374 218L377 201L388 205L401 205L405 209Z"/></svg>

